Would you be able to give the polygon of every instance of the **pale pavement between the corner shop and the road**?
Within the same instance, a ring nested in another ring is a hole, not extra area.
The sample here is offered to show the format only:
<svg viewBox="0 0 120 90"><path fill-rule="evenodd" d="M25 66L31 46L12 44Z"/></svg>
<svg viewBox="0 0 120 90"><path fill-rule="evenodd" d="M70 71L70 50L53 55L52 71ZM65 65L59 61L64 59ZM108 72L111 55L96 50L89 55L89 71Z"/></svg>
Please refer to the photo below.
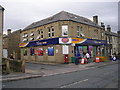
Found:
<svg viewBox="0 0 120 90"><path fill-rule="evenodd" d="M29 62L29 63L33 63L33 62ZM59 68L55 68L55 69L54 68L53 69L26 68L25 73L14 72L7 75L2 75L2 79L0 79L0 81L8 82L8 81L21 80L21 79L30 79L30 78L37 78L37 77L43 77L43 76L70 73L70 72L76 72L80 70L103 67L105 65L110 65L115 63L118 63L118 61L106 61L106 62L100 62L100 63L91 62L89 64L84 64L84 65L82 64L75 65L74 63L70 63L70 64L44 63L42 65L48 65L48 66L51 65L51 67L59 66ZM41 65L41 63L36 63L36 64Z"/></svg>

